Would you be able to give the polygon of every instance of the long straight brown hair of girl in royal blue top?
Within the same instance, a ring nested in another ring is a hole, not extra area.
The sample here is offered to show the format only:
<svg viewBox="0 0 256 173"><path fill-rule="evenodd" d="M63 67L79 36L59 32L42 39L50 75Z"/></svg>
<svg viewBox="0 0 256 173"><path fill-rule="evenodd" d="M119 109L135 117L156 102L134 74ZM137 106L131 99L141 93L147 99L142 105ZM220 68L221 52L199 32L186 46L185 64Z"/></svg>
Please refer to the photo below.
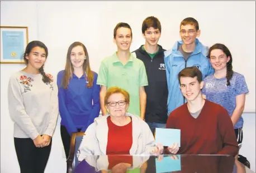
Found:
<svg viewBox="0 0 256 173"><path fill-rule="evenodd" d="M72 65L71 60L70 60L70 55L71 55L72 49L74 47L77 47L77 46L82 46L83 50L84 50L84 53L86 53L86 60L84 60L84 63L83 63L83 73L86 72L86 76L85 76L84 80L86 80L86 77L87 77L87 81L88 81L87 88L91 88L92 85L93 85L94 76L93 76L93 72L91 71L91 68L90 68L90 65L89 65L89 55L88 55L88 52L87 52L87 48L86 48L86 46L83 45L83 43L74 42L68 48L65 71L64 71L64 75L63 75L63 78L62 78L62 81L61 81L61 85L66 90L68 88L69 79L73 77L73 72L74 72L74 68L73 68L73 65Z"/></svg>

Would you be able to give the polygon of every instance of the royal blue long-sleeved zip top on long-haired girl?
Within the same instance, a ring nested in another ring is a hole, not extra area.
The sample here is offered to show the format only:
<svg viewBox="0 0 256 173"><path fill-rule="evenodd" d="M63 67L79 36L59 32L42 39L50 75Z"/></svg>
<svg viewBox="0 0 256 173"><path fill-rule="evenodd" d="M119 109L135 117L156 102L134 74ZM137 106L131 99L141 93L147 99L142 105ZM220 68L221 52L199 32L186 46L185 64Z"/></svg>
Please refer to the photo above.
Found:
<svg viewBox="0 0 256 173"><path fill-rule="evenodd" d="M91 88L87 88L86 73L80 78L73 73L68 89L65 90L61 86L63 74L64 70L60 71L57 76L60 124L65 126L71 135L72 132L77 132L78 128L82 128L81 131L86 131L94 118L99 116L101 86L96 83L98 75L95 72L93 72L94 80Z"/></svg>

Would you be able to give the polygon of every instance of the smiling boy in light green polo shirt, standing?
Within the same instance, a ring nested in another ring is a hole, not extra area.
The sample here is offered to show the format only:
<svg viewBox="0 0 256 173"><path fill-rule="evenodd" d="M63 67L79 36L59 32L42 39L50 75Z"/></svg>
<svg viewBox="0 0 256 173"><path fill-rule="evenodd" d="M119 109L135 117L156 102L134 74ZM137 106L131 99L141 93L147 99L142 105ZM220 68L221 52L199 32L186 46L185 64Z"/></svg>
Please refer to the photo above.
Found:
<svg viewBox="0 0 256 173"><path fill-rule="evenodd" d="M117 45L117 51L101 62L97 79L97 84L101 85L99 100L102 115L107 114L104 104L107 89L117 86L129 92L130 105L127 111L144 120L146 107L144 86L148 85L148 78L144 63L130 52L132 42L130 25L118 23L113 31L113 41Z"/></svg>

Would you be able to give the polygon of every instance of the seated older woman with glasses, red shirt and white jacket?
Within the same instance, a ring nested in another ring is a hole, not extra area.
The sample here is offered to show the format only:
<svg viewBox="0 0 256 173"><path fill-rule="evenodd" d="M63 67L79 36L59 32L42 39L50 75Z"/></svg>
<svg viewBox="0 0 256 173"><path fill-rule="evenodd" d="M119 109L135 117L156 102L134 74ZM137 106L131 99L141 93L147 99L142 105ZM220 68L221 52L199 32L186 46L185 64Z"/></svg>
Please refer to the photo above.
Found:
<svg viewBox="0 0 256 173"><path fill-rule="evenodd" d="M108 115L95 118L87 128L77 152L78 161L87 155L157 155L163 145L156 144L146 122L128 113L130 96L118 87L108 89L105 106Z"/></svg>

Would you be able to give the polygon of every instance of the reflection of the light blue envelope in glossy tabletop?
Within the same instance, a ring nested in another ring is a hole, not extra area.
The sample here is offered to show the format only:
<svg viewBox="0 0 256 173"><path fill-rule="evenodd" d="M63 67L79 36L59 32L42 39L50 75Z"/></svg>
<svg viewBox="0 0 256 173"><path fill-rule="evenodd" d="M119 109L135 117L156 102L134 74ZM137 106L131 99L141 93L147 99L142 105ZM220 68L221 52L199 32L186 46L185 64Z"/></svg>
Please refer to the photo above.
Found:
<svg viewBox="0 0 256 173"><path fill-rule="evenodd" d="M181 171L181 155L176 155L178 160L172 160L170 156L164 156L164 158L158 161L155 159L155 169L157 173Z"/></svg>

